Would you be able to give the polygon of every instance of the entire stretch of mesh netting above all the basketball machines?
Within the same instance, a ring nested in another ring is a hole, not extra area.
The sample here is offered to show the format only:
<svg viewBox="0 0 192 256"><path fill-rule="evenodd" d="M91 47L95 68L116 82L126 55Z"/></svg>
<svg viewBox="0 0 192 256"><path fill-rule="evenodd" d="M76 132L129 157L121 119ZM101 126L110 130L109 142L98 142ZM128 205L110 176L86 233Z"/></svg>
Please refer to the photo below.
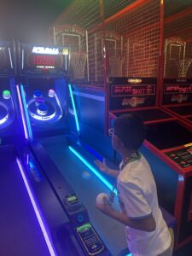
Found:
<svg viewBox="0 0 192 256"><path fill-rule="evenodd" d="M70 48L70 75L83 84L103 86L106 75L157 77L162 38L164 75L185 77L192 58L192 0L75 0L51 31L55 44Z"/></svg>

